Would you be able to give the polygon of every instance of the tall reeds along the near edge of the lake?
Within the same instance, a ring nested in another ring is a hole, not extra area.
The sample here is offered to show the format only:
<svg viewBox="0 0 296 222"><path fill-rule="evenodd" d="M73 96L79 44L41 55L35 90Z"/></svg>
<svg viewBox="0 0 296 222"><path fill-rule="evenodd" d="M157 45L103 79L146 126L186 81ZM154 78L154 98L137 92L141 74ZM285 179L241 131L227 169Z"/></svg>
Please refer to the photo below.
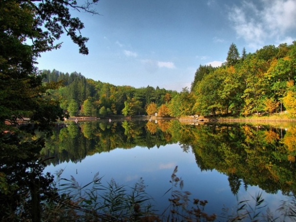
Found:
<svg viewBox="0 0 296 222"><path fill-rule="evenodd" d="M162 214L156 214L151 204L153 198L145 189L143 178L134 187L119 185L112 179L107 185L101 183L102 177L96 173L93 180L80 185L74 177L61 178L57 172L54 189L59 195L47 201L43 212L44 221L55 222L282 222L296 221L296 197L282 201L277 209L279 216L267 208L262 192L250 199L237 200L234 208L222 208L223 214L208 214L205 210L207 200L193 198L184 191L184 181L177 174L176 166L171 175L171 187L163 197L169 195L168 206Z"/></svg>

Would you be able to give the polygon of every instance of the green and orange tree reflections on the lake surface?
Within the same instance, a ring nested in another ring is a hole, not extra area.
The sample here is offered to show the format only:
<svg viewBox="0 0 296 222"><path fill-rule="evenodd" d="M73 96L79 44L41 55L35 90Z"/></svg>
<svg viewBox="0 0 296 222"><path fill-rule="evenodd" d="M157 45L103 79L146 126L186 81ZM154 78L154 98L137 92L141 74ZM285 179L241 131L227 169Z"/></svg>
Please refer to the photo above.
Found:
<svg viewBox="0 0 296 222"><path fill-rule="evenodd" d="M51 163L80 162L86 156L116 148L153 148L179 144L192 151L201 171L228 176L234 195L243 186L294 196L296 127L287 130L262 124L190 125L176 120L69 123L57 128L42 150ZM186 181L185 181L186 182ZM278 203L279 205L280 203Z"/></svg>

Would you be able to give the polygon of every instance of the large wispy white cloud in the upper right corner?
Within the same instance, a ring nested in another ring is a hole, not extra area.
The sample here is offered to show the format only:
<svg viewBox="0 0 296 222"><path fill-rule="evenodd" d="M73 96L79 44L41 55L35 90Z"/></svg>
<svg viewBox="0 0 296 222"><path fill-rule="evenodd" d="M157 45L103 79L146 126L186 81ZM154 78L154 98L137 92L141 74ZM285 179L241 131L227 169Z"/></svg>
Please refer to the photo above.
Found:
<svg viewBox="0 0 296 222"><path fill-rule="evenodd" d="M241 6L233 6L228 18L238 37L249 47L257 49L268 40L277 43L292 39L288 32L296 29L295 0L259 0L254 4L243 1Z"/></svg>

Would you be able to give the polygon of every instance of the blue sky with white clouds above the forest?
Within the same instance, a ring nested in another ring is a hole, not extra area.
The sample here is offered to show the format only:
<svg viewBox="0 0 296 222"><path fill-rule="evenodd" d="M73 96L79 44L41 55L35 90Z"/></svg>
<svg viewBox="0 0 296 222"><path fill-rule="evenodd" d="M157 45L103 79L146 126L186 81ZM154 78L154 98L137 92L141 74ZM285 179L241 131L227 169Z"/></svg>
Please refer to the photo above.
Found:
<svg viewBox="0 0 296 222"><path fill-rule="evenodd" d="M224 62L231 43L248 53L296 40L296 0L99 0L95 9L100 15L72 11L89 54L64 35L39 69L181 91L200 64Z"/></svg>

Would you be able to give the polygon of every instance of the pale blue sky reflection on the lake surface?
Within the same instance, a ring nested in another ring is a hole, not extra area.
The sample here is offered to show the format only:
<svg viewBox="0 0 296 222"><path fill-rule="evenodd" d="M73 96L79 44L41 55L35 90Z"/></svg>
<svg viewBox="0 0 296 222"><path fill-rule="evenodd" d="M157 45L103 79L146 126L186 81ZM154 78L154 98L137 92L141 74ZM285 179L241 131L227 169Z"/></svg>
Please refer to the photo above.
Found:
<svg viewBox="0 0 296 222"><path fill-rule="evenodd" d="M172 186L169 181L175 166L178 166L176 175L184 180L183 191L192 193L191 200L193 198L208 200L209 203L206 205L208 213L221 215L223 207L231 209L237 206L237 197L239 200L251 199L260 191L258 187L248 186L246 192L242 185L235 197L231 193L226 175L216 170L201 171L192 151L186 153L178 144L150 149L138 146L131 149L117 148L86 156L76 164L64 162L55 167L49 165L45 172L54 173L59 169L65 169L63 178L70 178L73 175L82 185L90 182L97 172L103 176L104 184L114 178L118 184L128 187L133 187L142 177L147 185L146 192L155 200L152 202L154 209L162 213L169 205L170 192L165 196L164 194ZM263 197L273 212L278 208L280 200L285 199L280 192L277 195L263 192Z"/></svg>

